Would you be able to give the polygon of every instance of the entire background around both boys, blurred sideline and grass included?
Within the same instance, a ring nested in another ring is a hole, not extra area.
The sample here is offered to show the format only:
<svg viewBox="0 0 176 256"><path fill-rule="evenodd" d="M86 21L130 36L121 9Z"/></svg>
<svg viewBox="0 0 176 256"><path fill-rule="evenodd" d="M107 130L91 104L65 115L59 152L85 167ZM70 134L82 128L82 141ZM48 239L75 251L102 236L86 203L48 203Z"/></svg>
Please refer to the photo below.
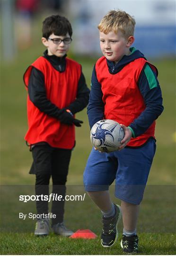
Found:
<svg viewBox="0 0 176 256"><path fill-rule="evenodd" d="M47 244L47 240L34 239L35 220L19 219L19 212L28 214L36 211L35 202L25 204L19 201L19 195L35 194L35 175L28 174L32 155L24 140L27 131L27 92L23 74L45 50L41 42L42 22L53 14L66 16L70 20L73 41L68 56L82 65L90 87L93 66L102 56L97 25L110 9L122 9L134 16L136 29L133 46L157 66L165 107L157 120L157 151L140 212L138 226L144 238L142 254L165 255L175 252L174 236L167 233L175 232L176 223L176 1L0 0L0 226L4 232L1 242L5 248L3 254L121 253L120 247L119 251L117 247L105 251L99 247L97 240L81 241L80 244L74 241L69 247L66 238L53 235L51 239L48 238ZM84 124L76 128L76 147L70 162L67 194L83 195L83 172L91 151L90 129L86 109L76 117ZM110 192L113 201L120 204L120 200L113 196L114 185ZM88 195L85 202L66 202L65 208L66 225L70 229L91 229L100 234L101 214ZM122 231L122 223L119 230ZM12 232L27 233L20 236ZM153 237L151 232L155 232ZM161 236L158 237L156 233ZM59 246L58 241L61 242ZM157 251L153 250L153 245L155 250L158 248Z"/></svg>

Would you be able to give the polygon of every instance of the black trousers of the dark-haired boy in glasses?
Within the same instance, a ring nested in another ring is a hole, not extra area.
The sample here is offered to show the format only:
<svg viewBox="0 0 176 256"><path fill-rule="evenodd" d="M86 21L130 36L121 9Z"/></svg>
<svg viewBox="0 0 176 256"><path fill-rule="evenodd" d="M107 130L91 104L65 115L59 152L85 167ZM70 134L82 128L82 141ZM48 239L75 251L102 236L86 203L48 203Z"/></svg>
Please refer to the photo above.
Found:
<svg viewBox="0 0 176 256"><path fill-rule="evenodd" d="M52 193L62 195L64 199L71 149L54 148L48 144L35 145L32 148L32 155L34 161L30 173L36 175L35 194L49 195L49 183L52 177ZM52 201L52 213L56 214L52 224L63 221L64 202L64 200ZM36 201L36 209L38 214L47 214L48 201Z"/></svg>

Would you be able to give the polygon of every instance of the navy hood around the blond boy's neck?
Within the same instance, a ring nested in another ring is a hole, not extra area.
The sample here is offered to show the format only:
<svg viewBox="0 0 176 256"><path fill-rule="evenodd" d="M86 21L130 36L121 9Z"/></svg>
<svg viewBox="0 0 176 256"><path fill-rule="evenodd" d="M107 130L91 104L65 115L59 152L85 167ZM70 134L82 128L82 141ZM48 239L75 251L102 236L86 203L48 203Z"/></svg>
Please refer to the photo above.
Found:
<svg viewBox="0 0 176 256"><path fill-rule="evenodd" d="M131 51L131 54L124 55L122 57L122 59L117 64L114 64L113 61L109 61L106 59L110 73L112 73L112 74L118 73L119 71L121 71L123 69L124 66L126 66L128 63L130 63L136 59L144 58L145 60L147 60L144 57L144 55L139 50L137 50L135 47L131 47L130 51Z"/></svg>

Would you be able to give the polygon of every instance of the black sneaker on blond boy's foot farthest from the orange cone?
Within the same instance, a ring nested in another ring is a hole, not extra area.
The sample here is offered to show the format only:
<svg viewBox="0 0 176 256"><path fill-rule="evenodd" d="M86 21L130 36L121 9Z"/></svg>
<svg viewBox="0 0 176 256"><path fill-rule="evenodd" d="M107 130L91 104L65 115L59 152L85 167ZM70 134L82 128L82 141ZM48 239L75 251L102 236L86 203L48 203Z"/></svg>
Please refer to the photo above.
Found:
<svg viewBox="0 0 176 256"><path fill-rule="evenodd" d="M123 235L121 240L121 247L123 248L123 252L127 254L138 253L138 243L139 238L137 235L131 237L126 237Z"/></svg>

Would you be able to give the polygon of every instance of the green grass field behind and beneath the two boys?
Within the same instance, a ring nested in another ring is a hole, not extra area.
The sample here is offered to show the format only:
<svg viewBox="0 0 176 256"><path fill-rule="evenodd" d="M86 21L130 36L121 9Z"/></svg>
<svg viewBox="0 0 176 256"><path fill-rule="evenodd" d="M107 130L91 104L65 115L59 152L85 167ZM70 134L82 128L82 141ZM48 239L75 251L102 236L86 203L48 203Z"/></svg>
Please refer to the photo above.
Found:
<svg viewBox="0 0 176 256"><path fill-rule="evenodd" d="M63 254L63 255L118 255L122 254L120 238L107 250L100 246L100 213L88 199L85 203L66 205L66 223L73 230L91 229L98 235L95 240L60 238L53 234L35 238L34 221L18 218L26 210L35 213L34 204L19 203L18 194L26 188L33 191L35 176L29 175L32 156L26 147L24 135L27 130L26 89L22 76L26 67L44 51L38 44L27 51L19 52L11 64L1 69L1 254ZM82 64L88 85L95 59L74 56ZM175 208L175 61L153 60L158 67L159 82L163 93L165 110L157 120L157 153L148 181L139 220L140 254L174 255L176 253L176 208ZM68 190L83 193L82 174L91 150L86 110L77 114L82 119L82 128L76 129L77 144L72 154ZM112 189L113 193L113 189ZM8 200L6 200L8 196ZM10 200L11 199L11 200ZM118 202L118 200L117 200ZM119 202L120 203L120 202ZM30 209L31 207L31 209ZM141 227L141 228L140 228ZM27 230L27 231L26 231ZM120 225L122 232L122 224Z"/></svg>

